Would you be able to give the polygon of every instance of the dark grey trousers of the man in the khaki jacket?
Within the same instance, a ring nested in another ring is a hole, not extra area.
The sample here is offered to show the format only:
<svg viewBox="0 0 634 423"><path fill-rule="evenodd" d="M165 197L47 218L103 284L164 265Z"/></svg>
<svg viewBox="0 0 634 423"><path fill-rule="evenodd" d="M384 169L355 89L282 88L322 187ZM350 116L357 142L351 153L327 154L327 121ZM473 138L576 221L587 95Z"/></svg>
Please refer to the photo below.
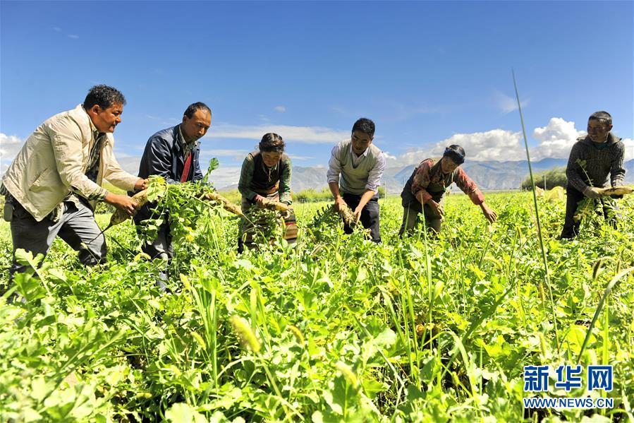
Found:
<svg viewBox="0 0 634 423"><path fill-rule="evenodd" d="M79 260L86 266L94 266L106 261L106 239L95 222L92 210L79 201L63 203L63 213L57 222L49 218L37 222L25 208L13 200L13 215L11 218L11 238L13 239L13 263L9 270L13 273L23 272L25 266L16 261L16 250L30 251L33 256L46 254L57 235L78 251Z"/></svg>

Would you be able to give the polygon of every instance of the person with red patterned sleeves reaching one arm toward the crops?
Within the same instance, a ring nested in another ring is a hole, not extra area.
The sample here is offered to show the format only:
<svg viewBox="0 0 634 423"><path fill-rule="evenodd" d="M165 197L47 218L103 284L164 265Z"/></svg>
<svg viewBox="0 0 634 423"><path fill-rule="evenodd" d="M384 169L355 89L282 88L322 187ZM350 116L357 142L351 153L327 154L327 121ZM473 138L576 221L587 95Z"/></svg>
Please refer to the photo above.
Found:
<svg viewBox="0 0 634 423"><path fill-rule="evenodd" d="M456 182L458 188L467 194L475 205L480 205L484 217L489 222L495 222L496 213L484 204L482 191L460 167L463 162L465 150L460 145L449 145L440 160L425 159L420 162L401 192L403 224L398 231L399 236L402 237L406 232L411 233L414 230L419 213L425 216L425 225L429 232L439 233L444 217L444 194L453 182Z"/></svg>

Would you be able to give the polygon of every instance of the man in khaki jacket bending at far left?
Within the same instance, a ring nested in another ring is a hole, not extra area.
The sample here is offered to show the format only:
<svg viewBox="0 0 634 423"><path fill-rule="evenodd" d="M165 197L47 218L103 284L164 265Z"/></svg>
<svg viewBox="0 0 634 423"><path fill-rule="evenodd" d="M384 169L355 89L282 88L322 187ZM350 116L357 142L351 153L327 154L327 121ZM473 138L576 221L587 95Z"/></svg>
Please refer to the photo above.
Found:
<svg viewBox="0 0 634 423"><path fill-rule="evenodd" d="M85 265L105 261L95 203L105 201L128 215L137 206L130 197L104 189L102 181L126 191L145 188L145 180L123 171L112 152L111 133L125 104L115 88L96 85L83 105L47 119L25 141L0 185L4 218L11 220L11 275L23 270L16 263L17 249L45 255L58 234Z"/></svg>

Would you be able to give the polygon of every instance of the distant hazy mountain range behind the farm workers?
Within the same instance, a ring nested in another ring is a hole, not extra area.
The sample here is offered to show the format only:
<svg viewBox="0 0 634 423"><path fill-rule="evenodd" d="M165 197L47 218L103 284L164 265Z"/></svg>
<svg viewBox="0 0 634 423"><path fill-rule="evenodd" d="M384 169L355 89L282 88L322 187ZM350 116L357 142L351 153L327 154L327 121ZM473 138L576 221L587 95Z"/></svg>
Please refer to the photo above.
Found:
<svg viewBox="0 0 634 423"><path fill-rule="evenodd" d="M553 167L566 166L566 159L543 159L539 162L531 162L534 173L552 169ZM126 157L119 160L121 167L132 174L138 172L138 158ZM625 163L626 183L634 184L634 160ZM382 184L388 193L400 193L409 179L415 165L405 167L388 167L383 174ZM466 162L463 169L480 188L485 190L494 189L518 189L522 181L528 177L528 161L516 162ZM321 190L327 187L325 167L300 167L293 166L293 179L291 189L302 191L303 189ZM239 174L216 181L220 191L231 191L238 189ZM235 179L235 181L234 181ZM233 183L232 183L233 182Z"/></svg>

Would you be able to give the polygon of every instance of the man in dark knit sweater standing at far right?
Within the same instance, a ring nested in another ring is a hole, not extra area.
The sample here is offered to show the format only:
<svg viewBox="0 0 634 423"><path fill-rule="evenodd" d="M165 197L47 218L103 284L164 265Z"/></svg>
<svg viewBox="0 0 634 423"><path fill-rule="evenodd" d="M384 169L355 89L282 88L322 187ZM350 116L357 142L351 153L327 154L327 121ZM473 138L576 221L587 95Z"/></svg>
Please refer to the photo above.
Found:
<svg viewBox="0 0 634 423"><path fill-rule="evenodd" d="M595 112L587 121L587 136L578 138L568 158L566 177L566 220L560 239L571 239L577 236L580 222L575 222L577 206L584 196L601 200L599 188L608 185L608 174L611 186L623 184L625 169L623 156L625 146L621 138L610 132L612 117L608 112ZM604 217L607 218L604 208Z"/></svg>

